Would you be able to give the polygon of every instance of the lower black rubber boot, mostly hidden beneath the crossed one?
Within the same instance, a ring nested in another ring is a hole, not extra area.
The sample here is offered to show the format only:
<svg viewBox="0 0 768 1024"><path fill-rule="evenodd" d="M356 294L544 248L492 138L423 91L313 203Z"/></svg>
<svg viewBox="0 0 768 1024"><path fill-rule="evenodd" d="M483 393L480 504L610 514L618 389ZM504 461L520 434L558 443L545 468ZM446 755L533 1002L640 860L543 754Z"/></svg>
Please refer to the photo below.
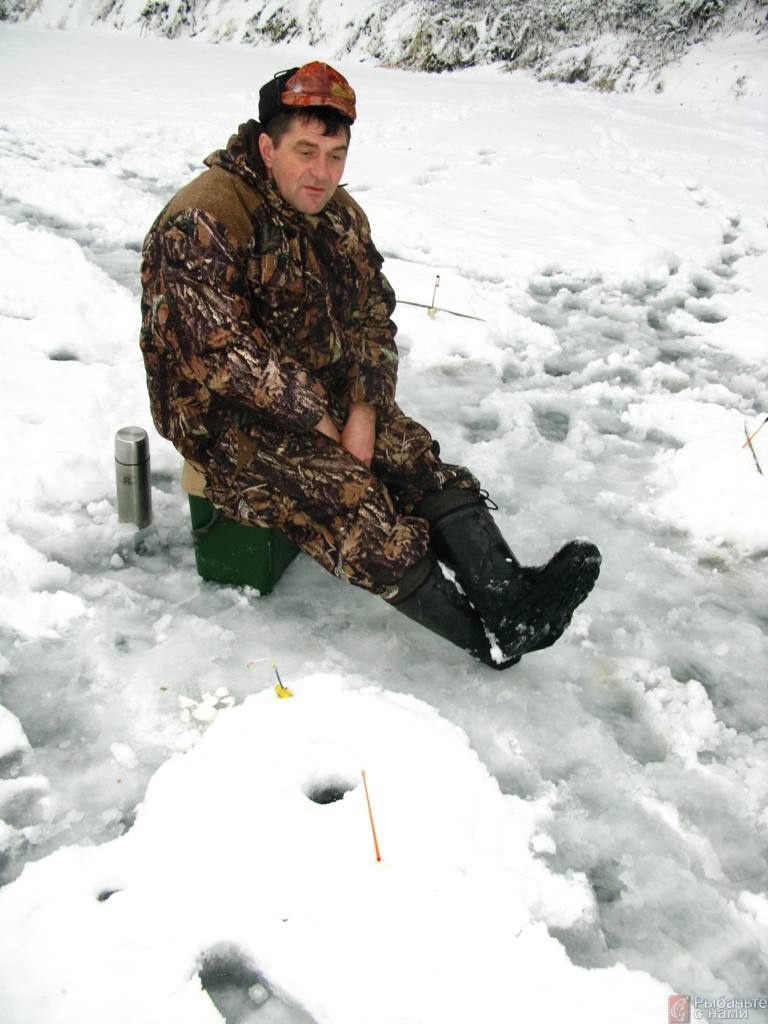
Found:
<svg viewBox="0 0 768 1024"><path fill-rule="evenodd" d="M447 580L431 553L412 566L400 581L397 596L388 601L393 608L468 651L483 665L507 669L519 657L505 658L490 641L480 616L460 590Z"/></svg>

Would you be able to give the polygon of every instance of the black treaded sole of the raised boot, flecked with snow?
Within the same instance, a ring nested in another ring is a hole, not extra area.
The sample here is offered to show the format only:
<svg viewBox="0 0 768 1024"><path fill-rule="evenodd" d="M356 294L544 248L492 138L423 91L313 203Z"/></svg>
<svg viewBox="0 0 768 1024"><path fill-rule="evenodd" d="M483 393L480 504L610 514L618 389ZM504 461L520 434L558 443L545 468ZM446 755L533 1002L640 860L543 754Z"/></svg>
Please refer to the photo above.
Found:
<svg viewBox="0 0 768 1024"><path fill-rule="evenodd" d="M505 659L544 650L558 640L600 574L594 544L571 541L542 570L531 590L505 616L496 635ZM557 596L555 596L557 595Z"/></svg>

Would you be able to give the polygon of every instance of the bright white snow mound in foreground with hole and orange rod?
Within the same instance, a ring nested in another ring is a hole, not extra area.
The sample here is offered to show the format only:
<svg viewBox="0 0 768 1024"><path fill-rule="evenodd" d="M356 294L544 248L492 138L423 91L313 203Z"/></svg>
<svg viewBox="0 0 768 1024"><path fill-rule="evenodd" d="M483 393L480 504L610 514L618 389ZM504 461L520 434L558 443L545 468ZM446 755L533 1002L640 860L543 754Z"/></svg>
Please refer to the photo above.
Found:
<svg viewBox="0 0 768 1024"><path fill-rule="evenodd" d="M28 865L0 894L6 1024L209 1024L201 967L222 961L291 1019L465 1024L511 1000L651 1019L660 983L575 967L547 931L594 908L534 853L546 801L503 795L428 705L348 684L310 676L221 712L130 833Z"/></svg>

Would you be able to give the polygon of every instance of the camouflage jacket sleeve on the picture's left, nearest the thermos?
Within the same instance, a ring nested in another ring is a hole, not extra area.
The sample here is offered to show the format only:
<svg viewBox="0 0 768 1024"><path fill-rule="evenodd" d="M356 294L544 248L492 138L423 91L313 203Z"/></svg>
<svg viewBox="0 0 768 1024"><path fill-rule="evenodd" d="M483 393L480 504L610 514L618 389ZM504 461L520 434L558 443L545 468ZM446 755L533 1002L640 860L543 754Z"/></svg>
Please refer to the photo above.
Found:
<svg viewBox="0 0 768 1024"><path fill-rule="evenodd" d="M323 387L251 318L233 237L202 210L178 213L159 230L162 288L153 319L178 372L217 399L310 430L326 410Z"/></svg>

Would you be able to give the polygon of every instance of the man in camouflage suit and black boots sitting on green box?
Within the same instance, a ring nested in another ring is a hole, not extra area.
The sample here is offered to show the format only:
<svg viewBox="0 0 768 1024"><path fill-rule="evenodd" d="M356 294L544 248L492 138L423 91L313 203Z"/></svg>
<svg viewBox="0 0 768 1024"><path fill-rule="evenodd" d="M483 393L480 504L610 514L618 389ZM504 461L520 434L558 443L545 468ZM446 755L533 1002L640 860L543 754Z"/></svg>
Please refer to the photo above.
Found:
<svg viewBox="0 0 768 1024"><path fill-rule="evenodd" d="M472 473L396 404L395 298L339 185L355 116L328 65L275 75L260 123L162 211L141 269L153 417L225 515L507 668L560 636L600 555L521 566Z"/></svg>

